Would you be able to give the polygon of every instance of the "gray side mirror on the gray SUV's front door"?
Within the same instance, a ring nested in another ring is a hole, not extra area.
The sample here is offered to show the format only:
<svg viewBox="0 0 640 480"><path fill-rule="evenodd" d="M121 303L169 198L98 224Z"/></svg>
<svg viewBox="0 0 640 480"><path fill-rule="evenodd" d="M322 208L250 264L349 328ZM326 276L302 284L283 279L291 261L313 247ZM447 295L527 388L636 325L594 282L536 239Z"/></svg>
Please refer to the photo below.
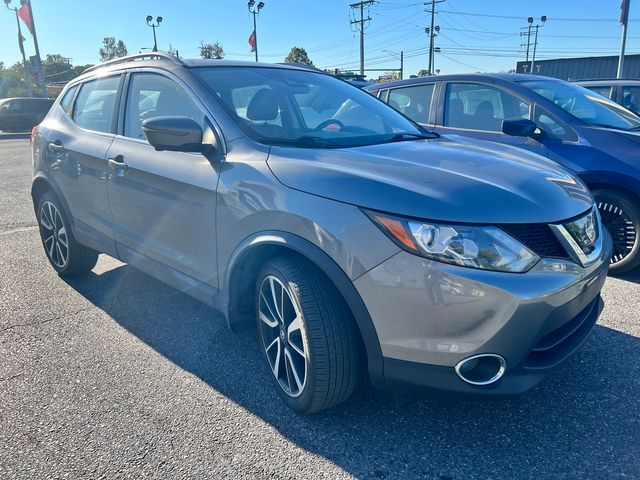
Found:
<svg viewBox="0 0 640 480"><path fill-rule="evenodd" d="M202 127L189 117L152 117L142 122L142 131L156 150L207 153L212 145L202 143Z"/></svg>

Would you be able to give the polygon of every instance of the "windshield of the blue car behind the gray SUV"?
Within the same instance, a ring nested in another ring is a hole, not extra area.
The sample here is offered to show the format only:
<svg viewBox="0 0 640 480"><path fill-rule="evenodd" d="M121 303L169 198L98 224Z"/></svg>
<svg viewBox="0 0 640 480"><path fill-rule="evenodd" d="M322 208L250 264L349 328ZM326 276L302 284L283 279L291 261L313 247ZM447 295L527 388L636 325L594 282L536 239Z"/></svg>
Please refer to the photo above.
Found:
<svg viewBox="0 0 640 480"><path fill-rule="evenodd" d="M640 127L640 117L584 87L557 80L534 80L522 82L522 85L591 125L619 130L635 130Z"/></svg>

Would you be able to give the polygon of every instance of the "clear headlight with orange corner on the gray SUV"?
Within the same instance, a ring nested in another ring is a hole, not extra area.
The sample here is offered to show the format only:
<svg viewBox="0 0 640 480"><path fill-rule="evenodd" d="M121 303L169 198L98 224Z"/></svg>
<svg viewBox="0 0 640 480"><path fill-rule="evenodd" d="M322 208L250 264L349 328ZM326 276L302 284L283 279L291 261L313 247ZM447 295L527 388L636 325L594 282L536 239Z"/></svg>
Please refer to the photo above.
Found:
<svg viewBox="0 0 640 480"><path fill-rule="evenodd" d="M526 272L540 257L498 227L423 223L365 211L402 249L439 262L499 272Z"/></svg>

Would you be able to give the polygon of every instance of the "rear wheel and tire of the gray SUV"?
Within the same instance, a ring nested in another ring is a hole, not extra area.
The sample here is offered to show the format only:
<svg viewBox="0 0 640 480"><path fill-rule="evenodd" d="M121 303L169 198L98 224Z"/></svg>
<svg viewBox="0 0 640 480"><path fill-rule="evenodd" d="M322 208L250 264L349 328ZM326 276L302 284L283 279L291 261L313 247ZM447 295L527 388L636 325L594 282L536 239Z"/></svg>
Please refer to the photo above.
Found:
<svg viewBox="0 0 640 480"><path fill-rule="evenodd" d="M36 210L40 239L51 266L62 276L81 275L91 271L98 252L80 245L60 200L51 192L38 199Z"/></svg>

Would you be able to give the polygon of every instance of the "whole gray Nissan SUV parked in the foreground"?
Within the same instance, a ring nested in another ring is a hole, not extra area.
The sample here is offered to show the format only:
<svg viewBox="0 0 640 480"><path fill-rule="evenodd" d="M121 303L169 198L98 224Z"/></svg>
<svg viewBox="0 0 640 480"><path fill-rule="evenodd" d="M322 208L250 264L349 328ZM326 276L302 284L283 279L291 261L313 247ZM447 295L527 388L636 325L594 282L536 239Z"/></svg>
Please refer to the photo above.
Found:
<svg viewBox="0 0 640 480"><path fill-rule="evenodd" d="M298 412L345 400L364 372L523 393L602 309L611 239L580 180L432 134L321 72L126 57L72 81L32 141L53 268L105 253L255 327Z"/></svg>

